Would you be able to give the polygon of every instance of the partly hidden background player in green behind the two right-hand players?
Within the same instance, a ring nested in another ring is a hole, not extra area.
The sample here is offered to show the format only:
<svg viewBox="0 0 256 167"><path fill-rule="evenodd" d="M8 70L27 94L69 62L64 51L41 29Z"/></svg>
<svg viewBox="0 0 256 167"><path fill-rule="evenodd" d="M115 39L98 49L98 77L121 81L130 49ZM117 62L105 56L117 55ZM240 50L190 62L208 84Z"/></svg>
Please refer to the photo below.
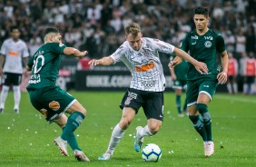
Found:
<svg viewBox="0 0 256 167"><path fill-rule="evenodd" d="M172 88L176 94L176 108L178 111L178 116L183 117L184 113L187 115L187 103L186 101L182 107L182 90L186 91L187 89L187 72L188 72L188 63L182 61L181 64L176 65L174 68L170 69L172 76Z"/></svg>

